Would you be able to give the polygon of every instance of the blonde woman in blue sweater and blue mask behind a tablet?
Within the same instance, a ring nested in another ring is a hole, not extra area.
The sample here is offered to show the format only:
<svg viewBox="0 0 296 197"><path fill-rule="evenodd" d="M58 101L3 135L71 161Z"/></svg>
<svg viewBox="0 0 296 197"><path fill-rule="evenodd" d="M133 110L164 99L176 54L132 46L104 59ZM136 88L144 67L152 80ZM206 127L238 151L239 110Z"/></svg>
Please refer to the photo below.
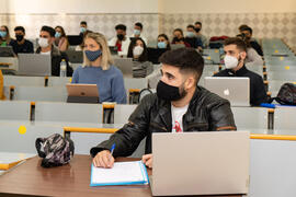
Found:
<svg viewBox="0 0 296 197"><path fill-rule="evenodd" d="M123 73L114 67L105 36L89 33L84 38L83 65L75 70L72 83L96 84L100 102L126 104Z"/></svg>

